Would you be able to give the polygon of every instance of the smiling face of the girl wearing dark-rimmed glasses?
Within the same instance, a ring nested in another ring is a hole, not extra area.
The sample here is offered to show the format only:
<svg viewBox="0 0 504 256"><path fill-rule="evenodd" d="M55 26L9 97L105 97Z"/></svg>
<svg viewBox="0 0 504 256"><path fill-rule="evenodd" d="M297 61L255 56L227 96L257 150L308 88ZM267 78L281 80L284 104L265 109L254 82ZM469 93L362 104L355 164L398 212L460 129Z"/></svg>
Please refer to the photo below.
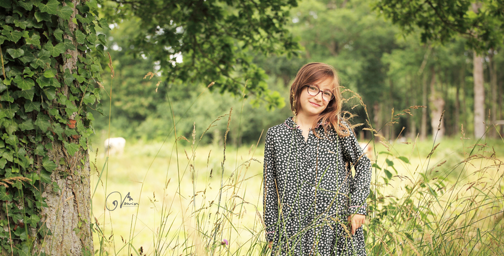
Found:
<svg viewBox="0 0 504 256"><path fill-rule="evenodd" d="M333 91L334 83L330 78L319 80L312 84L320 89L320 93L312 96L308 93L307 86L301 89L301 95L299 95L299 108L297 113L306 116L318 116L324 110L326 110L329 105L329 101L322 99L322 94L324 91Z"/></svg>

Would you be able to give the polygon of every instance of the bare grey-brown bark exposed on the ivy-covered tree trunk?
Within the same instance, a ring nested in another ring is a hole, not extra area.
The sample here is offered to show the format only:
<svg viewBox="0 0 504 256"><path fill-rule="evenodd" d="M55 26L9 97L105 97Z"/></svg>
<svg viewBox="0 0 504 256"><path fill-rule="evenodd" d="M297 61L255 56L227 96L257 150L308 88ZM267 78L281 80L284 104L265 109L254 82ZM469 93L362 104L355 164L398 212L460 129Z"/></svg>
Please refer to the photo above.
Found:
<svg viewBox="0 0 504 256"><path fill-rule="evenodd" d="M80 0L72 1L74 13L70 20L78 13L77 6L82 5ZM73 22L69 22L71 34L80 28ZM82 31L86 33L86 31ZM77 42L72 36L65 35L66 39ZM59 70L69 70L71 73L77 70L78 56L82 55L78 50L67 50L68 58L58 62ZM77 83L77 81L74 81ZM69 96L69 87L61 88L61 93ZM79 102L73 102L74 105ZM57 106L56 100L53 101ZM76 113L75 113L76 114ZM50 141L47 141L50 143ZM51 174L51 181L57 184L59 189L53 189L53 184L45 183L42 197L46 198L47 208L42 208L42 220L51 230L52 235L47 235L43 241L38 241L40 247L48 255L82 255L85 251L94 253L93 233L91 232L91 192L90 192L90 164L87 150L80 151L71 156L67 153L61 141L52 142L52 150L47 156L59 164ZM56 191L55 191L56 190Z"/></svg>

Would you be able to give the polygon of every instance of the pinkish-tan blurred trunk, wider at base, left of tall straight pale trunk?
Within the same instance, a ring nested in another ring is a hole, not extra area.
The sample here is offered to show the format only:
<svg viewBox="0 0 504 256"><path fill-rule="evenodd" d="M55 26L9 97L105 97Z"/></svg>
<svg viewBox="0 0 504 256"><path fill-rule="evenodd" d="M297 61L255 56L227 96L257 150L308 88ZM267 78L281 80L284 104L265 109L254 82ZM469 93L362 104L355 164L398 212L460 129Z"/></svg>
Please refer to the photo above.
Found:
<svg viewBox="0 0 504 256"><path fill-rule="evenodd" d="M445 136L445 120L441 115L445 108L445 100L442 93L436 90L436 72L431 68L432 78L430 80L430 125L432 127L432 137L441 140Z"/></svg>

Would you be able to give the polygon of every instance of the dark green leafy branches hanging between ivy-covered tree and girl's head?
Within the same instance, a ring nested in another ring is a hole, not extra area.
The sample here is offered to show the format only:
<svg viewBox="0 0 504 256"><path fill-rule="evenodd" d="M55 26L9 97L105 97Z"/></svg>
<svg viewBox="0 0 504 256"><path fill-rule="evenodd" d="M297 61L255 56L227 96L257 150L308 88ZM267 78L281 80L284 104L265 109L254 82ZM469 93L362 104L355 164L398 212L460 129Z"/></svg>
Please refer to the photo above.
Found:
<svg viewBox="0 0 504 256"><path fill-rule="evenodd" d="M138 17L142 29L131 34L127 50L159 62L168 82L215 82L212 90L240 95L248 81L247 92L276 106L249 54L295 53L297 43L285 28L291 6L295 0L115 0L104 2L102 12L119 26Z"/></svg>

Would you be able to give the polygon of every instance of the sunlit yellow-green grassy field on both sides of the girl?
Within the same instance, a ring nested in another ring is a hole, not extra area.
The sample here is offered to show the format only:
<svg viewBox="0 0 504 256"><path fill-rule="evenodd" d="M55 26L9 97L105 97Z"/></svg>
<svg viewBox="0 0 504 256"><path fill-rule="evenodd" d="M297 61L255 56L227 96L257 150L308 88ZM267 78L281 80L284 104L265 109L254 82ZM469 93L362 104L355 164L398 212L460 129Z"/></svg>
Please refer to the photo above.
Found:
<svg viewBox="0 0 504 256"><path fill-rule="evenodd" d="M96 143L97 254L264 252L264 146L198 146L198 138L128 142L108 161ZM437 143L371 143L370 255L502 255L504 143Z"/></svg>

